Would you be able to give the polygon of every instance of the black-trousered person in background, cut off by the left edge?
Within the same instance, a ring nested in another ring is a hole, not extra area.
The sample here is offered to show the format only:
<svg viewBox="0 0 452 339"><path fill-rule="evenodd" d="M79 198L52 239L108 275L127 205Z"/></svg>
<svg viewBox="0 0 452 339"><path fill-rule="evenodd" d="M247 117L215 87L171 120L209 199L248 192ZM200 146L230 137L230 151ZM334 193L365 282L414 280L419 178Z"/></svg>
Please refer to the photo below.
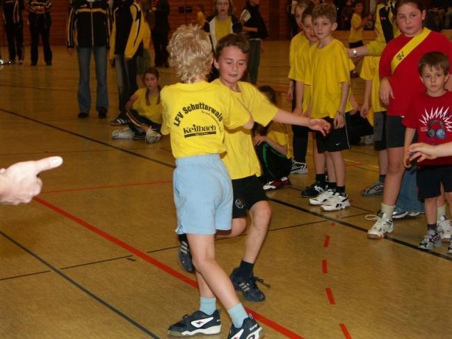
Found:
<svg viewBox="0 0 452 339"><path fill-rule="evenodd" d="M3 13L6 38L8 39L10 57L8 63L15 64L17 56L19 64L22 65L24 62L24 22L22 20L24 1L0 0L0 8Z"/></svg>

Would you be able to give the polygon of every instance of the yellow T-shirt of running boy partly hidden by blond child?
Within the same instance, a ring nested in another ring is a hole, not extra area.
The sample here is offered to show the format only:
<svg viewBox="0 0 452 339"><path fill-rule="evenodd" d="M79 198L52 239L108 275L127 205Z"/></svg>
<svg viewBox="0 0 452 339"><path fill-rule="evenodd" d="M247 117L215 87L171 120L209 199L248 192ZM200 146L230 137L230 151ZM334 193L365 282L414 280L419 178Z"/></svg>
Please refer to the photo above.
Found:
<svg viewBox="0 0 452 339"><path fill-rule="evenodd" d="M216 79L213 83L220 84L221 82ZM243 81L239 81L238 85L240 92L228 90L250 111L255 122L266 126L275 117L278 108L271 104L267 97L259 92L254 85ZM259 176L261 174L259 159L252 144L251 131L243 128L227 128L225 145L226 154L223 154L222 160L231 179L242 179L247 176L255 174Z"/></svg>

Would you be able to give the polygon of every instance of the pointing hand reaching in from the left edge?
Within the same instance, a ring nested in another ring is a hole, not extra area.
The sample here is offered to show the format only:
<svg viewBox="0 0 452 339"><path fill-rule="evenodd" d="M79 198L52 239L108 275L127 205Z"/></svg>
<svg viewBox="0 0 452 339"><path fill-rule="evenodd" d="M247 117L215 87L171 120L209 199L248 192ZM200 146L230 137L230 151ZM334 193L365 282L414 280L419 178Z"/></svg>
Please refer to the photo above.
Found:
<svg viewBox="0 0 452 339"><path fill-rule="evenodd" d="M17 205L31 201L42 188L38 174L62 163L63 159L59 156L51 156L41 160L15 163L6 169L0 169L0 203Z"/></svg>

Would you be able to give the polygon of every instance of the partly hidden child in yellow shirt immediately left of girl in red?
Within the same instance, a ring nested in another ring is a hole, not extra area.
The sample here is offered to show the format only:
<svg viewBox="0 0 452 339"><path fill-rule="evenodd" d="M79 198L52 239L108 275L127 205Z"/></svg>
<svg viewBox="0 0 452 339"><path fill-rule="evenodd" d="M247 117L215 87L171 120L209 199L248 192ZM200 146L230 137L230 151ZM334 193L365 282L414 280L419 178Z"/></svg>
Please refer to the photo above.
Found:
<svg viewBox="0 0 452 339"><path fill-rule="evenodd" d="M378 89L380 88L380 76L378 75L379 56L365 56L362 63L360 77L366 82L364 84L364 102L361 106L361 116L369 119L373 124L373 140L375 149L378 151L378 167L380 175L378 181L372 183L368 188L362 190L364 197L382 195L387 172L387 149L386 149L386 108L380 103ZM373 112L373 116L370 114Z"/></svg>

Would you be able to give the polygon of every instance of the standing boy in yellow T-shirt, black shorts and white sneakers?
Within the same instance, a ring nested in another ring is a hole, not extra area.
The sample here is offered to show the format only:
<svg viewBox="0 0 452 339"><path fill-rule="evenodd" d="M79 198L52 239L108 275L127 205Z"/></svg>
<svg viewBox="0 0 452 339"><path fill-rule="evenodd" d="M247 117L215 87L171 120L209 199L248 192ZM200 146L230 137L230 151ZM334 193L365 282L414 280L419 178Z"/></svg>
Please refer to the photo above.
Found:
<svg viewBox="0 0 452 339"><path fill-rule="evenodd" d="M316 133L317 151L319 154L330 154L336 177L336 188L328 188L309 199L310 204L321 206L323 210L341 210L350 206L345 192L346 167L341 151L350 148L346 113L352 110L349 99L350 70L354 66L348 59L344 45L332 37L332 32L337 28L336 18L336 8L330 3L322 3L312 11L318 44L310 49L305 76L305 84L309 85L311 94L308 114L311 117L323 117L334 126L326 136ZM318 157L316 168L321 170L325 166L325 158Z"/></svg>

